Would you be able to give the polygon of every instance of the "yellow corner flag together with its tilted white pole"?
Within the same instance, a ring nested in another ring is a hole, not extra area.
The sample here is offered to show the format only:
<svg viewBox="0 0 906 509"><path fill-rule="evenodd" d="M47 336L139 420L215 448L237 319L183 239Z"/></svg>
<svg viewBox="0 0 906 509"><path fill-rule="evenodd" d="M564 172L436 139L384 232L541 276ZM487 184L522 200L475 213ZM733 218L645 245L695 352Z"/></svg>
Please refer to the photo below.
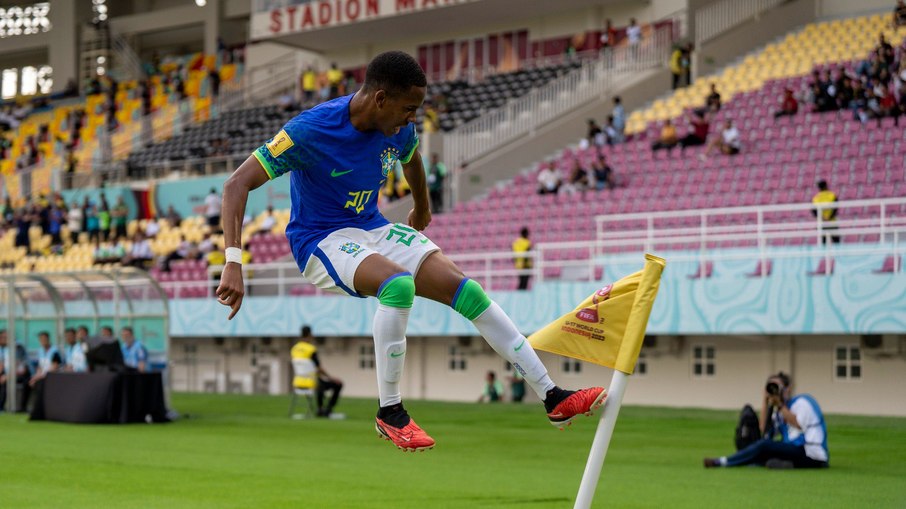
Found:
<svg viewBox="0 0 906 509"><path fill-rule="evenodd" d="M646 254L645 267L641 271L598 290L576 309L528 338L536 350L614 369L604 412L573 506L575 509L591 507L623 403L628 375L632 374L639 358L665 265L663 258Z"/></svg>

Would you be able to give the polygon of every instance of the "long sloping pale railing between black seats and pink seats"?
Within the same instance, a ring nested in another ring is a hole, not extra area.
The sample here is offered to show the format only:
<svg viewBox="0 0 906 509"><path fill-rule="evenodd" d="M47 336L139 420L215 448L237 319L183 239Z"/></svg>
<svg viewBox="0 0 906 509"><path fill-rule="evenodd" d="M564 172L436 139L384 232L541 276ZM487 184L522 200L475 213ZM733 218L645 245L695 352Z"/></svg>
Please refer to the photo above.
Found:
<svg viewBox="0 0 906 509"><path fill-rule="evenodd" d="M519 137L533 135L551 120L607 95L634 73L663 66L672 43L672 27L663 27L637 46L621 46L586 61L562 78L450 131L444 161L457 168L463 161L474 161Z"/></svg>

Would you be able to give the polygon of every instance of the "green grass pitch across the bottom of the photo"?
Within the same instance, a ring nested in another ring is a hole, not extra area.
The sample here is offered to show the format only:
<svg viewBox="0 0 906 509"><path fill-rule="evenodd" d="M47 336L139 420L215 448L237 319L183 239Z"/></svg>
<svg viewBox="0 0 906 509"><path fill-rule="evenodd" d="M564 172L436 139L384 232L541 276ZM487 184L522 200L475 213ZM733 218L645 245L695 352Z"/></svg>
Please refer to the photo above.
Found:
<svg viewBox="0 0 906 509"><path fill-rule="evenodd" d="M572 507L596 419L561 432L535 405L411 402L438 445L378 440L374 401L345 421L286 417L287 397L176 394L166 425L0 415L0 508ZM831 468L705 470L735 412L626 407L595 507L906 507L906 419L828 416Z"/></svg>

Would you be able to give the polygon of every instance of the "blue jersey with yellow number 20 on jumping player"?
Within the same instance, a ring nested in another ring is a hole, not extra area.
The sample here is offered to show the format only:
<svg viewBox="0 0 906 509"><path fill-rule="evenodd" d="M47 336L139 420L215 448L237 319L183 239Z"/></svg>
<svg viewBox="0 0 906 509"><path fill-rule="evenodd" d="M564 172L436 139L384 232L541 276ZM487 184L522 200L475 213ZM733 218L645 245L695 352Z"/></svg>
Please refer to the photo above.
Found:
<svg viewBox="0 0 906 509"><path fill-rule="evenodd" d="M353 127L352 97L303 111L254 153L271 179L290 174L292 211L286 237L301 270L330 233L388 223L377 207L381 186L396 162L408 163L418 147L413 124L389 137Z"/></svg>

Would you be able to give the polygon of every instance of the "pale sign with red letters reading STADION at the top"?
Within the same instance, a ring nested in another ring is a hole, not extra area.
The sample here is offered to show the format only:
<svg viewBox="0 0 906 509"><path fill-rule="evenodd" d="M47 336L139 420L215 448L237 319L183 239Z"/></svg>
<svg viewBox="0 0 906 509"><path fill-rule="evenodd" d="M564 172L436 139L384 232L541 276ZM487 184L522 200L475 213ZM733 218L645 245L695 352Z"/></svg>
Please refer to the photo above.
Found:
<svg viewBox="0 0 906 509"><path fill-rule="evenodd" d="M412 14L478 0L311 0L252 15L252 39L308 32L378 18ZM280 2L283 3L283 2Z"/></svg>

